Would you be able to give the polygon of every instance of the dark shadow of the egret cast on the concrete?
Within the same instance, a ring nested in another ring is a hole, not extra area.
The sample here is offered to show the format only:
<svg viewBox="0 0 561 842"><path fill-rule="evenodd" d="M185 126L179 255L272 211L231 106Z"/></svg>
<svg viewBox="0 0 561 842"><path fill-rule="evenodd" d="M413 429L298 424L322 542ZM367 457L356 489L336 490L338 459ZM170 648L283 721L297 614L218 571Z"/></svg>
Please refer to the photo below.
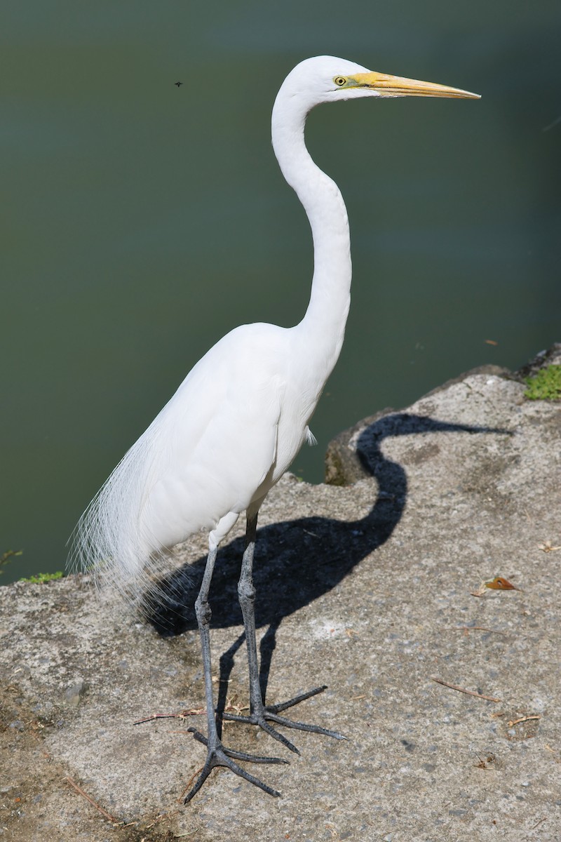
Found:
<svg viewBox="0 0 561 842"><path fill-rule="evenodd" d="M366 474L378 483L368 514L357 520L298 518L257 530L256 624L268 626L260 644L263 698L283 619L335 588L363 558L388 541L401 520L408 494L407 474L399 462L384 456L384 440L424 433L511 434L506 429L448 424L409 413L384 415L364 429L357 440L357 458ZM243 622L237 580L244 548L244 538L236 538L220 549L209 594L214 628L240 626ZM162 637L197 628L194 603L205 563L206 557L199 557L168 573L158 585L157 596L146 600L143 613ZM225 708L234 658L244 639L242 633L220 658L219 715Z"/></svg>

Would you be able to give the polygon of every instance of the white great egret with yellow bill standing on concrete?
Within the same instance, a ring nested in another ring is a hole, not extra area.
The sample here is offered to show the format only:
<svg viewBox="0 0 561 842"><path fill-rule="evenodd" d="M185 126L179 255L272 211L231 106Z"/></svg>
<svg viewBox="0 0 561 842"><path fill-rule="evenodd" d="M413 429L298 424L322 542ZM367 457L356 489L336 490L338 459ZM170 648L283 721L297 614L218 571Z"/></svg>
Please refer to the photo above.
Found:
<svg viewBox="0 0 561 842"><path fill-rule="evenodd" d="M477 94L319 56L302 61L281 86L273 107L273 149L284 178L310 221L314 277L310 304L294 328L246 324L228 333L190 371L172 399L115 468L77 525L74 556L98 578L133 593L153 587L167 550L198 530L209 532L209 554L195 603L204 664L207 759L185 802L210 770L227 766L272 796L280 793L236 760L285 763L225 748L216 728L210 672L209 586L220 541L246 512L246 550L238 594L246 631L250 715L232 719L262 727L299 754L268 722L342 739L322 727L293 722L280 711L320 693L265 706L259 686L252 562L257 513L288 469L341 351L350 302L351 250L347 210L336 184L312 161L304 122L315 105L358 97L454 97Z"/></svg>

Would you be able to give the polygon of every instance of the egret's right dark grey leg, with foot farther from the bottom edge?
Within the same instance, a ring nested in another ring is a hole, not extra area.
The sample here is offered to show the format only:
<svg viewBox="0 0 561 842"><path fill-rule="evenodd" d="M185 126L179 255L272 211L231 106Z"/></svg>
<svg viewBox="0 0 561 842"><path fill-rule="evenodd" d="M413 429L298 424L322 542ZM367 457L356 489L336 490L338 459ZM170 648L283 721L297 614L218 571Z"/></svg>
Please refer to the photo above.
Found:
<svg viewBox="0 0 561 842"><path fill-rule="evenodd" d="M315 687L314 690L308 690L307 693L301 693L294 696L294 699L289 699L278 705L265 706L261 692L261 685L259 683L259 666L257 663L257 641L255 633L255 586L253 584L253 554L255 552L255 536L257 532L257 514L247 518L246 528L246 551L244 552L241 561L241 576L238 582L238 598L240 600L241 614L243 616L244 628L246 630L247 643L247 663L249 668L249 697L250 697L250 714L249 716L238 716L233 713L224 713L224 719L235 720L236 722L249 722L252 725L259 725L263 731L270 734L271 737L277 739L279 743L283 743L299 754L299 750L291 743L283 734L278 733L275 728L268 724L268 722L275 722L278 725L284 725L290 728L298 728L300 731L311 731L317 734L325 734L327 737L334 737L336 739L346 739L342 734L336 731L329 731L327 728L322 728L318 725L308 725L305 722L294 722L292 719L279 717L280 711L287 710L288 707L298 705L304 699L310 699L310 696L322 693L326 689L326 685Z"/></svg>

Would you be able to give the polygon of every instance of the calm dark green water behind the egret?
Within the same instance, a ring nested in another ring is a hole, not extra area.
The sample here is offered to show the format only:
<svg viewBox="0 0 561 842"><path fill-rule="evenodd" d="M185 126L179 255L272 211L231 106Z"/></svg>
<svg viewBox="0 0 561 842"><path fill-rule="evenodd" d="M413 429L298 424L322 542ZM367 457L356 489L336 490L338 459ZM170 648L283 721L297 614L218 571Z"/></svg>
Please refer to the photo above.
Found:
<svg viewBox="0 0 561 842"><path fill-rule="evenodd" d="M12 0L2 15L0 555L24 551L3 583L63 567L88 500L223 333L302 316L310 233L269 119L306 56L483 99L310 115L354 280L320 446L295 472L320 481L358 418L561 340L558 0Z"/></svg>

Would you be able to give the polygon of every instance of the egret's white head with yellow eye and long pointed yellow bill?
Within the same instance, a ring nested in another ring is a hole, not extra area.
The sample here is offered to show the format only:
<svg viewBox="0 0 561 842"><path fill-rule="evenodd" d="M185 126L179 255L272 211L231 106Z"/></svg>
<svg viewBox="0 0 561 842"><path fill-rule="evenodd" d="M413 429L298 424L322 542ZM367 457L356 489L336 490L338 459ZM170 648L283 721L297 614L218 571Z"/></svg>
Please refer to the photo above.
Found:
<svg viewBox="0 0 561 842"><path fill-rule="evenodd" d="M361 67L353 61L334 56L308 58L288 73L279 97L298 100L304 112L324 102L358 97L452 97L453 99L479 99L479 94L390 76Z"/></svg>

